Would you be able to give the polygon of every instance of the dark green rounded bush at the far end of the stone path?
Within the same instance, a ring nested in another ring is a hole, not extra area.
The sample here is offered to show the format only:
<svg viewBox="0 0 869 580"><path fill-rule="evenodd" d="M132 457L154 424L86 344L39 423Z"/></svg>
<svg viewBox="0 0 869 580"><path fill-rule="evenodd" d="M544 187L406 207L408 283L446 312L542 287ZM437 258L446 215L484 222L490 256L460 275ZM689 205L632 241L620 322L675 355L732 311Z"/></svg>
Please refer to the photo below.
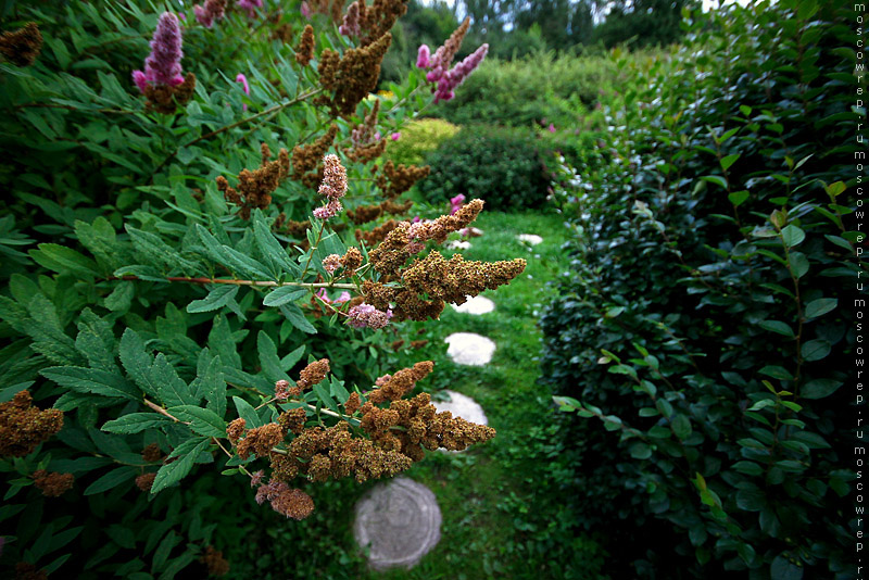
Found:
<svg viewBox="0 0 869 580"><path fill-rule="evenodd" d="M457 193L482 199L493 211L540 207L549 172L543 151L528 130L473 125L426 155L429 176L417 185L431 204L445 204Z"/></svg>

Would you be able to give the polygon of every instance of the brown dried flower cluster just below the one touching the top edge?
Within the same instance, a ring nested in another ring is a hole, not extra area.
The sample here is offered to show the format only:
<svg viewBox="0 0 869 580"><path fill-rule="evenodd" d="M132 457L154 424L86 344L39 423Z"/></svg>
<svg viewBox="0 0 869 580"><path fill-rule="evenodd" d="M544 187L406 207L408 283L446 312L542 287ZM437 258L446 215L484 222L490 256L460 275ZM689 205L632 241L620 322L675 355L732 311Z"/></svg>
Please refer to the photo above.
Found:
<svg viewBox="0 0 869 580"><path fill-rule="evenodd" d="M370 45L348 49L340 61L335 52L324 50L318 67L320 86L335 90L335 96L318 99L317 103L328 104L333 115L353 115L356 105L377 87L380 62L391 42L392 35L387 33Z"/></svg>

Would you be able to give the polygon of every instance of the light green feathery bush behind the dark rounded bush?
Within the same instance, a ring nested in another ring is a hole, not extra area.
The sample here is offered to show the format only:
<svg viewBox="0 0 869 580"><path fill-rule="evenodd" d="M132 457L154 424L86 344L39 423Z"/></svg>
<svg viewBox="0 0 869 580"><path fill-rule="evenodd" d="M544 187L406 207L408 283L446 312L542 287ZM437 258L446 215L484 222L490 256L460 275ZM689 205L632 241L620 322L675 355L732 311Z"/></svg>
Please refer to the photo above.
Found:
<svg viewBox="0 0 869 580"><path fill-rule="evenodd" d="M511 62L487 59L455 99L430 114L458 125L575 126L587 116L595 118L602 94L618 86L613 61L601 56L540 52Z"/></svg>

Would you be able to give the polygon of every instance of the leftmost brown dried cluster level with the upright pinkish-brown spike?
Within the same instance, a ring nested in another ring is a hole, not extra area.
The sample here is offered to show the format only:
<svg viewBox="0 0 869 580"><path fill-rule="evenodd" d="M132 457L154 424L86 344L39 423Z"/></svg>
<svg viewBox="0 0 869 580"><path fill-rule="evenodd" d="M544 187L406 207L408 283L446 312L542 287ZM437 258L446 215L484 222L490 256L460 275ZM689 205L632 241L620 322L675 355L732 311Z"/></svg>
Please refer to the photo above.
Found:
<svg viewBox="0 0 869 580"><path fill-rule="evenodd" d="M286 179L290 173L290 155L286 149L281 149L276 161L272 159L272 151L268 146L260 146L262 163L260 168L250 172L241 169L238 174L238 190L234 189L226 177L218 176L217 189L223 192L226 201L239 206L238 215L242 219L250 219L251 211L255 207L265 210L272 203L272 193Z"/></svg>

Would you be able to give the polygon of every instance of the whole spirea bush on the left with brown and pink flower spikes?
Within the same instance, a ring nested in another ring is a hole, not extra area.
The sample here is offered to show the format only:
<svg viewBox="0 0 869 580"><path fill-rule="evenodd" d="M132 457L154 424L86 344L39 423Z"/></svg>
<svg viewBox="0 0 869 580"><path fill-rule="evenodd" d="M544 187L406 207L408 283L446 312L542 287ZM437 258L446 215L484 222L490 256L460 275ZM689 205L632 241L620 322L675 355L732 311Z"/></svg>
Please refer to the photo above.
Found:
<svg viewBox="0 0 869 580"><path fill-rule="evenodd" d="M374 164L437 87L414 70L368 98L405 10L5 10L4 577L323 573L358 556L262 528L323 530L342 481L494 437L436 412L430 362L387 354L525 267L442 257L483 202L412 226L428 168Z"/></svg>

